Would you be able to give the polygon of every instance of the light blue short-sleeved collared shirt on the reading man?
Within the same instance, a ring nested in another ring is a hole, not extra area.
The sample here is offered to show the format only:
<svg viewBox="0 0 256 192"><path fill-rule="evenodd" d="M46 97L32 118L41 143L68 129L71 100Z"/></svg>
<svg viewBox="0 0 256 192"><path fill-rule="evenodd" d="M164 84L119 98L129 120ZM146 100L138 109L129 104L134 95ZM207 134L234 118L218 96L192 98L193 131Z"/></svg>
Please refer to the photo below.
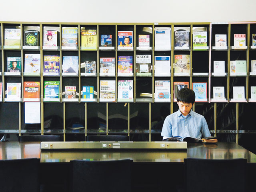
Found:
<svg viewBox="0 0 256 192"><path fill-rule="evenodd" d="M168 115L164 120L162 136L181 136L203 138L211 136L204 116L190 110L187 116L183 116L180 110Z"/></svg>

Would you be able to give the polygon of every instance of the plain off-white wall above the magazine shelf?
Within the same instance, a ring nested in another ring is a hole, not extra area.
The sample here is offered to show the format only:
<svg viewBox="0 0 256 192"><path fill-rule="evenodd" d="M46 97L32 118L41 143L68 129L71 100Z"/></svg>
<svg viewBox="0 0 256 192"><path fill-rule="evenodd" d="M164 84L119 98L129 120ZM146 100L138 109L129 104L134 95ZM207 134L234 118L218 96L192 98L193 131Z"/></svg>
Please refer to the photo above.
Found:
<svg viewBox="0 0 256 192"><path fill-rule="evenodd" d="M256 21L255 0L1 0L0 7L0 21Z"/></svg>

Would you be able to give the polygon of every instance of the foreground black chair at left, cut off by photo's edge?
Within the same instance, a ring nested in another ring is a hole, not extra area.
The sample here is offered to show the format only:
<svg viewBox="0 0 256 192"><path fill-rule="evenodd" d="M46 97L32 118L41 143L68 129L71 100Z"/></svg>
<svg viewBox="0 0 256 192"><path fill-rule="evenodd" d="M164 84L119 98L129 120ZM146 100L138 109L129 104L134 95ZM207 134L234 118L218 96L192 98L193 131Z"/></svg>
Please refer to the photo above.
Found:
<svg viewBox="0 0 256 192"><path fill-rule="evenodd" d="M0 160L0 192L39 192L40 159Z"/></svg>

